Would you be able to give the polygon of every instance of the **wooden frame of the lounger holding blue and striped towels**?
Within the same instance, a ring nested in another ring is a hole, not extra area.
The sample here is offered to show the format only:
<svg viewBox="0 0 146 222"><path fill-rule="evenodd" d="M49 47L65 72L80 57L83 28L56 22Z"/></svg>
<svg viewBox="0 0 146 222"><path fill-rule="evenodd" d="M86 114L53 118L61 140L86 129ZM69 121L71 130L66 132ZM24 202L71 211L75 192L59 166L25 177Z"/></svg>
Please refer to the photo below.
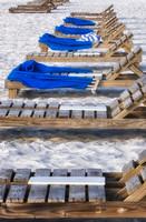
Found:
<svg viewBox="0 0 146 222"><path fill-rule="evenodd" d="M126 34L123 34L123 31L125 30L125 26L121 24L119 27L117 27L117 29L113 32L110 32L108 36L103 37L103 42L94 42L93 43L93 48L110 48L114 43L117 42L117 40L121 41L123 43L120 44L121 48L124 48L124 50L128 53L130 52L132 48L133 48L133 42L129 41L133 38L133 33L132 32L127 32ZM80 36L74 36L72 34L57 34L57 37L59 38L76 38L79 39ZM39 47L41 49L41 52L47 52L48 51L48 46L45 43L39 43Z"/></svg>

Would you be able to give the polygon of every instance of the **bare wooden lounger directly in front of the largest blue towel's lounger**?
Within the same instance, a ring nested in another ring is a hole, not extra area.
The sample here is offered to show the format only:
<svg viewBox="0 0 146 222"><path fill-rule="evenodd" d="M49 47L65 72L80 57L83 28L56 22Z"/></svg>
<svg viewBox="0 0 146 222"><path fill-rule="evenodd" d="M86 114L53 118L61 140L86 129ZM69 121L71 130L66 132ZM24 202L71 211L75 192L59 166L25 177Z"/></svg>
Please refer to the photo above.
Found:
<svg viewBox="0 0 146 222"><path fill-rule="evenodd" d="M67 129L145 129L146 75L110 105L41 101L1 101L0 127Z"/></svg>

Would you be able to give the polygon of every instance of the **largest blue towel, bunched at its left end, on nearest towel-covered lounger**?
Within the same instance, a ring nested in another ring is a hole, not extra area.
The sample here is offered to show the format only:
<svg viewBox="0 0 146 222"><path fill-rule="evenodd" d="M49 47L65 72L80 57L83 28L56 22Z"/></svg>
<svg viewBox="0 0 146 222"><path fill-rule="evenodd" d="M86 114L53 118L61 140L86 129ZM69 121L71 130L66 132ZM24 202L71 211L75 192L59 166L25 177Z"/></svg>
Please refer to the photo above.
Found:
<svg viewBox="0 0 146 222"><path fill-rule="evenodd" d="M8 80L19 81L28 88L36 89L74 88L81 90L86 89L93 81L93 78L56 74L69 72L93 73L93 70L66 67L48 67L30 60L14 68L8 75Z"/></svg>

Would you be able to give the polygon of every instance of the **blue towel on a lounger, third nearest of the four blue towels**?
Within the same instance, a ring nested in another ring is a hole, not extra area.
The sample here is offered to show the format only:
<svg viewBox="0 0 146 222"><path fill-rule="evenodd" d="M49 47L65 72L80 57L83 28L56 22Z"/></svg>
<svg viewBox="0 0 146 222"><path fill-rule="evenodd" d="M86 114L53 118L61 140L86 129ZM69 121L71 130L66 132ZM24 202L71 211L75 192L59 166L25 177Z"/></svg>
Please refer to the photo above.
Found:
<svg viewBox="0 0 146 222"><path fill-rule="evenodd" d="M64 34L87 34L89 32L94 32L94 29L72 28L61 24L60 27L56 27L56 31L59 31Z"/></svg>

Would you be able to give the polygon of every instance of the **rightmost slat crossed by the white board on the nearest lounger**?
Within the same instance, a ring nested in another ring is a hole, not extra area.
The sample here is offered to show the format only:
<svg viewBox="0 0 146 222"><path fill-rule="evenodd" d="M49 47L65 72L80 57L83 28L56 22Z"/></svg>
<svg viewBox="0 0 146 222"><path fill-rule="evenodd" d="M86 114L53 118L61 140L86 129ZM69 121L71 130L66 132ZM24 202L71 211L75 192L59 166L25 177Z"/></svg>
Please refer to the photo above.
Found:
<svg viewBox="0 0 146 222"><path fill-rule="evenodd" d="M88 169L87 178L89 176L103 176L100 169ZM104 185L88 185L88 198L89 202L105 202L105 186Z"/></svg>

